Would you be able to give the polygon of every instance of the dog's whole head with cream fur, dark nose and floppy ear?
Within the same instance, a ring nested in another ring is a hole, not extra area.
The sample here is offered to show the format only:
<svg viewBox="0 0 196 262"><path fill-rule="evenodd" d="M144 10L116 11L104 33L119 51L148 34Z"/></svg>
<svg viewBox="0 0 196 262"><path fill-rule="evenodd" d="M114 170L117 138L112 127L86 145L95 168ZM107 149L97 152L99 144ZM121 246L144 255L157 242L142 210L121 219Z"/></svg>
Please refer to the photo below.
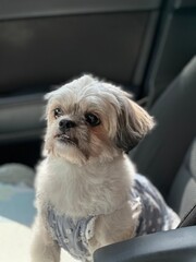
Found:
<svg viewBox="0 0 196 262"><path fill-rule="evenodd" d="M75 164L109 160L152 128L152 118L112 84L84 75L46 95L45 148Z"/></svg>

